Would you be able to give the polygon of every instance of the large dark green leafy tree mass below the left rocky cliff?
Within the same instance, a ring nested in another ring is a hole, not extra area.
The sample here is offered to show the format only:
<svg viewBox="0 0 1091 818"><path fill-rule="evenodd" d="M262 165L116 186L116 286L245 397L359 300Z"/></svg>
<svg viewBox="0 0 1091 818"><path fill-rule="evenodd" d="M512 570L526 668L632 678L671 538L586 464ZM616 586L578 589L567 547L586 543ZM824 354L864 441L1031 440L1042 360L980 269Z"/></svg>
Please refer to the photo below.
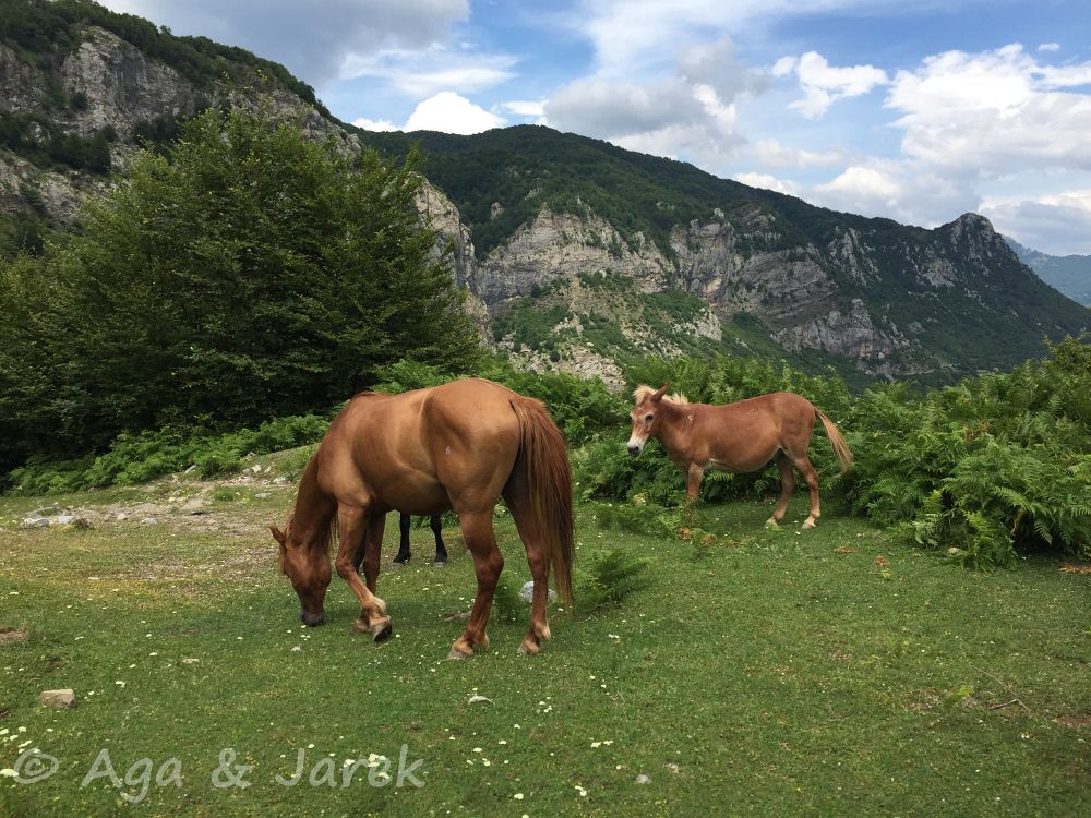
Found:
<svg viewBox="0 0 1091 818"><path fill-rule="evenodd" d="M76 454L326 408L401 358L466 371L480 341L416 207L419 165L200 115L80 234L0 268L0 416Z"/></svg>

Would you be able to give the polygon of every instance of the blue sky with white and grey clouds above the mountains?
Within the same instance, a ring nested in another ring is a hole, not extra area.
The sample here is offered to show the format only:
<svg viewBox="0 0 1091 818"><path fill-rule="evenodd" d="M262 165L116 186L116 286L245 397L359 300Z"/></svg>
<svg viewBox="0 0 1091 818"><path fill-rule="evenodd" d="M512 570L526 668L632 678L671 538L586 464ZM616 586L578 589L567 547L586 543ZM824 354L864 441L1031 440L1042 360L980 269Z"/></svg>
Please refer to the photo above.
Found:
<svg viewBox="0 0 1091 818"><path fill-rule="evenodd" d="M339 119L521 123L1091 254L1087 0L105 0L283 63Z"/></svg>

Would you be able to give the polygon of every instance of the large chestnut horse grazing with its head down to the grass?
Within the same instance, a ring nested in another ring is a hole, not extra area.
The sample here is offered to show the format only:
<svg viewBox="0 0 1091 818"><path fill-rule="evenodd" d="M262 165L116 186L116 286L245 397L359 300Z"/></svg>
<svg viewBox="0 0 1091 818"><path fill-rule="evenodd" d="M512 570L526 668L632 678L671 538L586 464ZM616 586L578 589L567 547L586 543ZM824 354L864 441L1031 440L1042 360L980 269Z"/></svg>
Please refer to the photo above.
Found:
<svg viewBox="0 0 1091 818"><path fill-rule="evenodd" d="M296 507L280 543L307 625L325 621L329 541L339 529L335 565L360 600L355 627L375 641L391 635L386 603L375 596L386 513L433 515L454 509L473 556L478 588L449 658L485 648L485 627L504 557L492 528L503 496L527 550L535 582L530 629L519 648L538 653L550 638L549 572L572 599L572 474L564 437L538 400L490 381L455 381L403 395L357 395L329 425L303 470ZM353 557L363 550L360 580Z"/></svg>

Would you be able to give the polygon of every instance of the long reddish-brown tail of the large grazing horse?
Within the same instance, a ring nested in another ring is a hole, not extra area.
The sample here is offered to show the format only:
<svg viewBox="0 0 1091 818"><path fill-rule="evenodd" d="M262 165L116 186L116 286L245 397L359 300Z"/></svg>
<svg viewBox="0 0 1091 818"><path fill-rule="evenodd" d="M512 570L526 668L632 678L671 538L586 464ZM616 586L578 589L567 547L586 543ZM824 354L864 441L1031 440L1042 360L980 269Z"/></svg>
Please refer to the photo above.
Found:
<svg viewBox="0 0 1091 818"><path fill-rule="evenodd" d="M540 400L518 396L512 398L512 409L523 430L513 477L526 485L530 513L527 537L544 544L553 582L564 603L571 605L575 524L567 447Z"/></svg>

